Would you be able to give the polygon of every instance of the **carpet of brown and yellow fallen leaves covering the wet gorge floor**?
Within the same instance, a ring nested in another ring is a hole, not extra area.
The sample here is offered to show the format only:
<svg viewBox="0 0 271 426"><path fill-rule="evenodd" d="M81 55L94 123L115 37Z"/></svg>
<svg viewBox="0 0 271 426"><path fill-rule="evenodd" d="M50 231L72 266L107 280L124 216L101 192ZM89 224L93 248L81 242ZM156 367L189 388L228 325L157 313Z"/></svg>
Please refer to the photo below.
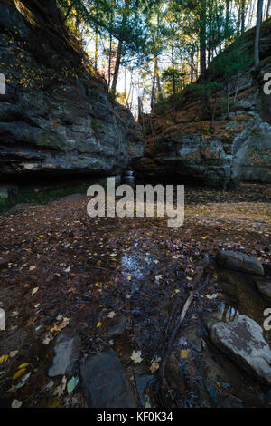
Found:
<svg viewBox="0 0 271 426"><path fill-rule="evenodd" d="M77 376L46 388L53 340L75 325L82 359L113 345L129 376L137 366L156 373L169 312L189 294L207 254L229 248L271 263L267 186L231 192L187 188L185 198L181 228L168 228L164 218L89 218L81 200L0 217L1 307L7 314L0 395L7 405L47 406L52 393L62 399L76 389ZM223 299L215 274L203 296L207 304ZM192 309L199 304L196 300ZM117 315L128 318L126 344L107 338L108 321ZM186 348L181 359L189 360ZM23 387L16 389L19 379ZM16 398L14 392L20 392Z"/></svg>

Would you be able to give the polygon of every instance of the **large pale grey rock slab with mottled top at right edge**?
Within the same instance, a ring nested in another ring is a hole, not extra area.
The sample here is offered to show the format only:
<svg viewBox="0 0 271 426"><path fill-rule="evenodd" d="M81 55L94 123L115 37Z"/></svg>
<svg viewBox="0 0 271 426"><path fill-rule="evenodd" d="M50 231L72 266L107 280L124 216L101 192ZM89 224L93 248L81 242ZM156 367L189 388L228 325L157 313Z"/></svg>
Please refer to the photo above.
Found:
<svg viewBox="0 0 271 426"><path fill-rule="evenodd" d="M271 350L263 330L246 315L237 315L231 323L210 326L210 338L216 346L262 382L271 384Z"/></svg>

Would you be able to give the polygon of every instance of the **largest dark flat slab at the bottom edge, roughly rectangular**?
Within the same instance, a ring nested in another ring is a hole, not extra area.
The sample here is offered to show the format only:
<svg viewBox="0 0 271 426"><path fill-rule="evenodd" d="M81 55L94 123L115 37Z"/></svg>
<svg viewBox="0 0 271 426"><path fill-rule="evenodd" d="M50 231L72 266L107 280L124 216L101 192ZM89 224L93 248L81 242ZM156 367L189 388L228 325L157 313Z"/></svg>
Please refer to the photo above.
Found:
<svg viewBox="0 0 271 426"><path fill-rule="evenodd" d="M137 407L132 386L113 350L88 358L80 373L89 408Z"/></svg>

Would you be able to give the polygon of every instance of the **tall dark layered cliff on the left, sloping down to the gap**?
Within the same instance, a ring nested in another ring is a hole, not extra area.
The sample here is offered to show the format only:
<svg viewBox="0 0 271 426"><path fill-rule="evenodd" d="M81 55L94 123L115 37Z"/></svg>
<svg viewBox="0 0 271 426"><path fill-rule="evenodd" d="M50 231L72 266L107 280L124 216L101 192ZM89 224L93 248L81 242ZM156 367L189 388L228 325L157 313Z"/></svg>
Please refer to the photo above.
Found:
<svg viewBox="0 0 271 426"><path fill-rule="evenodd" d="M140 126L61 20L31 0L0 7L0 179L113 175L141 157Z"/></svg>

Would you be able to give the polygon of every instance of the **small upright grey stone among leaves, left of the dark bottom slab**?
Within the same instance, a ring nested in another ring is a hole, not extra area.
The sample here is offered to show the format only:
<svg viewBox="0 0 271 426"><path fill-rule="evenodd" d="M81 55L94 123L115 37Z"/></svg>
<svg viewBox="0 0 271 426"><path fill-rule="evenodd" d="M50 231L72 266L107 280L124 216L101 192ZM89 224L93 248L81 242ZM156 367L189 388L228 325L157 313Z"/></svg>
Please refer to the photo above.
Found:
<svg viewBox="0 0 271 426"><path fill-rule="evenodd" d="M72 374L79 360L81 339L78 334L59 334L54 347L54 357L49 377Z"/></svg>

